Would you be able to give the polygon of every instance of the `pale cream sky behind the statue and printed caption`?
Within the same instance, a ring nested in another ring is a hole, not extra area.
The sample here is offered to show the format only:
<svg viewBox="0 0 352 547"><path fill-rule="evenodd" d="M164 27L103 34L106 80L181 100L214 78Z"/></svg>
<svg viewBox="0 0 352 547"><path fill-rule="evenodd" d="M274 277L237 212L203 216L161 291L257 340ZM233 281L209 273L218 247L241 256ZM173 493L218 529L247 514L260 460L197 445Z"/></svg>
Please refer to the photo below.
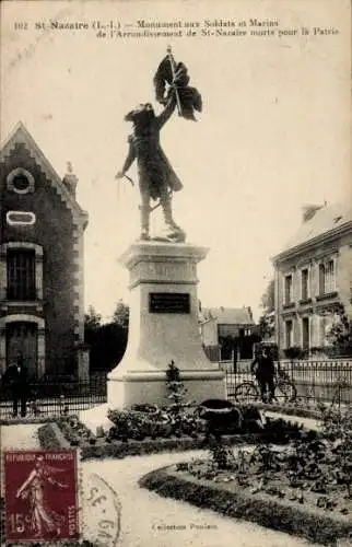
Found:
<svg viewBox="0 0 352 547"><path fill-rule="evenodd" d="M351 199L349 2L44 0L0 9L1 141L21 120L59 176L72 162L78 201L90 216L85 309L108 319L119 299L129 301L118 258L139 234L139 193L114 178L131 130L124 116L140 102L159 112L152 80L171 44L203 98L197 123L175 114L162 132L184 184L174 197L176 221L188 242L209 247L199 298L203 306L251 306L258 318L270 258L298 229L302 207ZM200 36L204 21L238 28L250 18L277 21L275 35ZM136 30L142 19L201 26L196 37L172 39L99 38L93 30L97 21ZM49 20L89 30L52 30ZM297 33L279 37L279 28ZM129 175L137 181L136 165Z"/></svg>

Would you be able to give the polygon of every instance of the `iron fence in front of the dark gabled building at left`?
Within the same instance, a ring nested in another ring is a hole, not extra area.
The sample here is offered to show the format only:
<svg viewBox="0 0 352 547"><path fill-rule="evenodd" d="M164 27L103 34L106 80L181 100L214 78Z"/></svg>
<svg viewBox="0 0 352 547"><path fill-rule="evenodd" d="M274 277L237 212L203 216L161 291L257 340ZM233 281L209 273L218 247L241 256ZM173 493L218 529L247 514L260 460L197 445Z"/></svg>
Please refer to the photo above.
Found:
<svg viewBox="0 0 352 547"><path fill-rule="evenodd" d="M86 381L62 381L58 379L28 384L26 392L26 416L49 417L74 414L107 400L106 375L90 376ZM21 401L19 401L20 410ZM0 385L0 419L12 417L13 393ZM20 414L20 412L19 412Z"/></svg>

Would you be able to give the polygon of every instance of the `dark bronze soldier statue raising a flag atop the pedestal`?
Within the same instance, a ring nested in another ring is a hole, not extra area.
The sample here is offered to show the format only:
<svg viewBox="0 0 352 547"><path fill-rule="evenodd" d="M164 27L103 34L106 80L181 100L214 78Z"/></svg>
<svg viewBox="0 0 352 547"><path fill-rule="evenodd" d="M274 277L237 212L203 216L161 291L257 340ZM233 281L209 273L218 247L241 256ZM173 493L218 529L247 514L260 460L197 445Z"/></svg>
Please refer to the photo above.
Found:
<svg viewBox="0 0 352 547"><path fill-rule="evenodd" d="M133 132L129 137L129 152L122 170L116 178L127 176L126 173L137 160L139 187L141 193L141 238L150 238L150 214L159 205L163 209L168 233L166 240L184 242L185 232L177 225L173 217L172 195L183 188L183 184L174 172L160 143L160 132L173 115L177 105L178 115L186 119L196 119L193 110L201 110L202 102L199 92L188 85L189 77L183 62L176 63L171 48L160 63L154 77L156 100L164 105L163 112L156 116L150 103L140 104L127 114L125 119L133 124ZM129 178L129 177L127 177ZM159 203L151 207L151 199Z"/></svg>

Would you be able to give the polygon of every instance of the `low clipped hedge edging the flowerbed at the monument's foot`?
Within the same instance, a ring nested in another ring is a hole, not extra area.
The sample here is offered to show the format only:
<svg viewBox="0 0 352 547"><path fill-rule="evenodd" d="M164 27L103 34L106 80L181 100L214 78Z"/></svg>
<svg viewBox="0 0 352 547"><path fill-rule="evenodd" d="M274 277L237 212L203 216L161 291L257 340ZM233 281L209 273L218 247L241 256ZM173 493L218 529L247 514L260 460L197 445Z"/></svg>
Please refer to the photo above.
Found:
<svg viewBox="0 0 352 547"><path fill-rule="evenodd" d="M39 429L40 446L45 450L68 447L70 443L64 439L57 423L47 423ZM223 443L226 445L255 444L258 442L274 442L272 434L250 433L237 435L224 435ZM102 444L83 444L80 446L81 459L102 459L105 457L121 458L125 456L141 456L156 454L160 452L184 452L189 450L207 449L204 439L146 439L143 441L129 440L128 442L113 441Z"/></svg>

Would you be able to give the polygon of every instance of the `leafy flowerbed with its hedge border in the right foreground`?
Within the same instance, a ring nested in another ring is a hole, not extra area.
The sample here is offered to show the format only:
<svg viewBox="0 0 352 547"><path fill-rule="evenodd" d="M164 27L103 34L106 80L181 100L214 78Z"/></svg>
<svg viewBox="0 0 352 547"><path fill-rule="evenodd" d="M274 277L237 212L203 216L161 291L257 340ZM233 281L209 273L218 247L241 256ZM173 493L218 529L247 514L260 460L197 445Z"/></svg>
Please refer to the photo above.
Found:
<svg viewBox="0 0 352 547"><path fill-rule="evenodd" d="M145 476L162 496L180 498L325 545L352 545L352 414L326 414L322 431L298 431L285 446L210 445L193 459Z"/></svg>

